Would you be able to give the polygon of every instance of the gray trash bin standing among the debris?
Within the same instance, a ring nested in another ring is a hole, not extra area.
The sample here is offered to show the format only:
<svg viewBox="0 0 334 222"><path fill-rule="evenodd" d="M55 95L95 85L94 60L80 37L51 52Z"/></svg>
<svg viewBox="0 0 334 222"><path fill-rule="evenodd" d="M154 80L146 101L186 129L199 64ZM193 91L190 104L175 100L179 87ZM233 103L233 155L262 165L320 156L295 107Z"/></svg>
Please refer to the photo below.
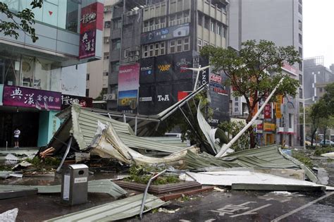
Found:
<svg viewBox="0 0 334 222"><path fill-rule="evenodd" d="M87 202L88 166L72 164L63 171L61 180L61 202L75 205Z"/></svg>

